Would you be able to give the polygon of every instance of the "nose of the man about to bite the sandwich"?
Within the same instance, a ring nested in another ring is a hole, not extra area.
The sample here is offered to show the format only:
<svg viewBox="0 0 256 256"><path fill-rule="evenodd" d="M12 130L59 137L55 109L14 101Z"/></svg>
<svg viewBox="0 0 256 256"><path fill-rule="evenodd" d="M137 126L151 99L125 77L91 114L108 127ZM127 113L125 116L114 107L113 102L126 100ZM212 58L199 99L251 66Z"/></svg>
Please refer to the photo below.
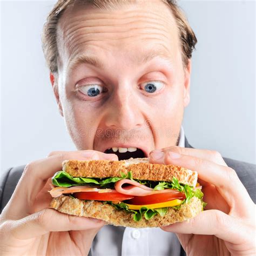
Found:
<svg viewBox="0 0 256 256"><path fill-rule="evenodd" d="M124 85L113 93L106 108L107 127L132 130L143 125L142 106L133 90L131 86Z"/></svg>

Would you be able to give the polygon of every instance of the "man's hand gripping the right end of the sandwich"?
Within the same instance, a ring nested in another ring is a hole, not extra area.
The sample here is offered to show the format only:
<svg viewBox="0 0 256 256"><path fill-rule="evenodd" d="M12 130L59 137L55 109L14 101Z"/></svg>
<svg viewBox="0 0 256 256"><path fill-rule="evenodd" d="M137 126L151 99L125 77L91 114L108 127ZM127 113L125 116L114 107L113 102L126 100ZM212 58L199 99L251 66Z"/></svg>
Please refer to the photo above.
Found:
<svg viewBox="0 0 256 256"><path fill-rule="evenodd" d="M161 227L177 233L187 255L255 255L255 205L220 153L174 146L152 151L149 159L198 172L207 211Z"/></svg>

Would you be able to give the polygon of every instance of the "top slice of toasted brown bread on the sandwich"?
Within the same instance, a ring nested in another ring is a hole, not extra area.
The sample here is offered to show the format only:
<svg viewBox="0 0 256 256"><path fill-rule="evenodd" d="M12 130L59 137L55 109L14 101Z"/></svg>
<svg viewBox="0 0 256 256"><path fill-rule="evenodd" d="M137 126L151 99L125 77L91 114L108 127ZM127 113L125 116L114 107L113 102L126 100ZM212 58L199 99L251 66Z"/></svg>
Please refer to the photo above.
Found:
<svg viewBox="0 0 256 256"><path fill-rule="evenodd" d="M197 172L184 167L164 164L150 164L147 158L130 158L128 160L66 160L63 171L72 177L107 178L121 177L121 173L132 172L132 177L139 180L172 181L175 177L179 183L196 186Z"/></svg>

